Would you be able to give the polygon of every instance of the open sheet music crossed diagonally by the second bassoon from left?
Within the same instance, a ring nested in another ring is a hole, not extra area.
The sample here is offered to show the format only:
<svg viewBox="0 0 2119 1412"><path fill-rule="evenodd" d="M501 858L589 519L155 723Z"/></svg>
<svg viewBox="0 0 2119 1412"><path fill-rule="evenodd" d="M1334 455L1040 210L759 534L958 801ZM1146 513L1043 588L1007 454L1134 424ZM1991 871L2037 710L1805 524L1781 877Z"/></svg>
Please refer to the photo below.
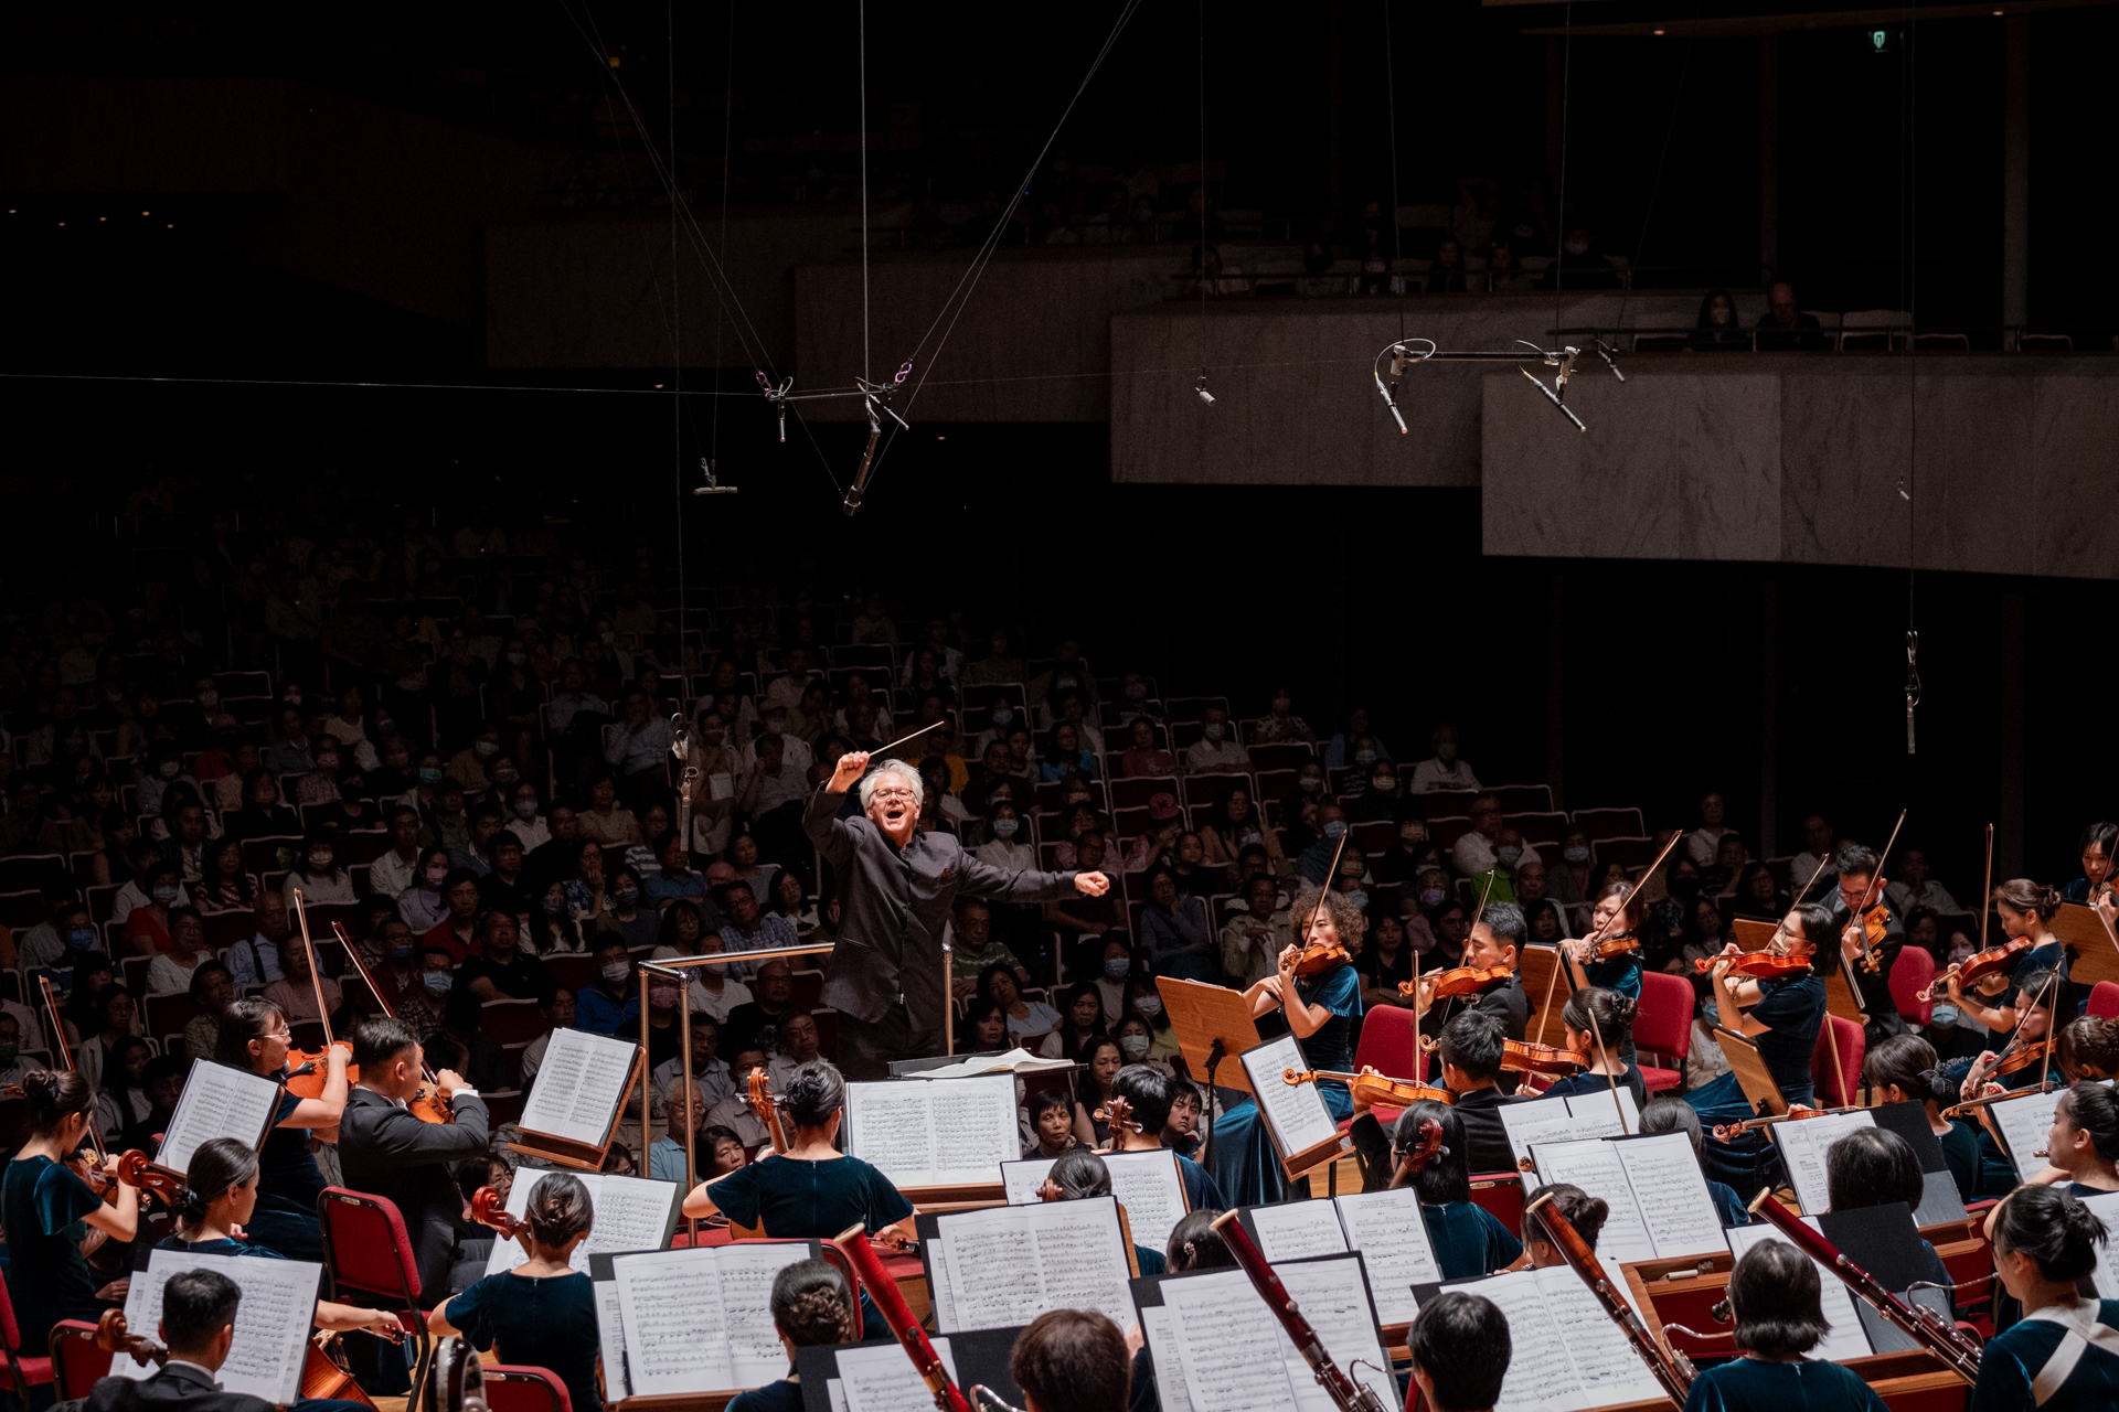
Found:
<svg viewBox="0 0 2119 1412"><path fill-rule="evenodd" d="M1274 1262L1274 1274L1316 1327L1324 1353L1386 1408L1405 1399L1388 1374L1360 1255ZM1155 1289L1163 1315L1146 1323L1165 1408L1197 1412L1333 1412L1310 1363L1242 1270L1168 1274L1134 1285ZM1146 1319L1151 1298L1142 1298ZM1157 1329L1163 1342L1157 1344ZM1182 1378L1172 1378L1180 1370ZM1172 1387L1182 1382L1182 1397Z"/></svg>

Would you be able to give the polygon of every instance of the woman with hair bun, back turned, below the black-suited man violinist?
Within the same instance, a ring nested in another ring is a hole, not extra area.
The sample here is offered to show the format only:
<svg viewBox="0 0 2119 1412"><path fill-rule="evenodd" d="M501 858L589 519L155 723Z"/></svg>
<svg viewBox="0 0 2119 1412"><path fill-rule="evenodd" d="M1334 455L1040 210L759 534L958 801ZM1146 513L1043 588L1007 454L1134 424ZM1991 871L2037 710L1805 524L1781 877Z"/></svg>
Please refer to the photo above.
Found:
<svg viewBox="0 0 2119 1412"><path fill-rule="evenodd" d="M566 1382L574 1408L600 1412L595 1293L589 1272L572 1268L591 1226L595 1207L581 1177L538 1175L517 1236L523 1264L443 1300L426 1317L428 1332L460 1334L502 1363L549 1368Z"/></svg>

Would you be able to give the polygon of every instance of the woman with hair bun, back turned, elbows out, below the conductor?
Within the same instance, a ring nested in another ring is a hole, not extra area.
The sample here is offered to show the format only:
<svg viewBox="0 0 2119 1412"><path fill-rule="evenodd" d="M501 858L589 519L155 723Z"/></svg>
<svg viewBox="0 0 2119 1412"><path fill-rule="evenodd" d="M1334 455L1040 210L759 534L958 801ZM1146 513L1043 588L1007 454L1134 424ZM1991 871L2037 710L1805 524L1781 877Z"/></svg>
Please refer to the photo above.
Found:
<svg viewBox="0 0 2119 1412"><path fill-rule="evenodd" d="M829 1061L803 1065L788 1082L782 1107L795 1124L788 1149L701 1181L684 1198L684 1215L704 1219L720 1211L735 1226L763 1230L776 1241L829 1241L856 1221L877 1238L915 1238L913 1205L905 1194L890 1177L837 1147L845 1080ZM869 1338L888 1338L867 1296L862 1315Z"/></svg>

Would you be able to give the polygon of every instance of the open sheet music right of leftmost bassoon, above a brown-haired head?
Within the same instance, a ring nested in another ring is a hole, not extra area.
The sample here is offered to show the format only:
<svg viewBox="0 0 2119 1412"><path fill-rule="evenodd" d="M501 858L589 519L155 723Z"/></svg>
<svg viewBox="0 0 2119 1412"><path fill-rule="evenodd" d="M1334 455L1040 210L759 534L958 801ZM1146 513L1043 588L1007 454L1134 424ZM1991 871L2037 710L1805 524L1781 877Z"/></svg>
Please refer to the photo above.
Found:
<svg viewBox="0 0 2119 1412"><path fill-rule="evenodd" d="M926 1249L934 1327L1021 1327L1049 1308L1093 1308L1134 1325L1125 1234L1110 1196L985 1207L937 1219Z"/></svg>

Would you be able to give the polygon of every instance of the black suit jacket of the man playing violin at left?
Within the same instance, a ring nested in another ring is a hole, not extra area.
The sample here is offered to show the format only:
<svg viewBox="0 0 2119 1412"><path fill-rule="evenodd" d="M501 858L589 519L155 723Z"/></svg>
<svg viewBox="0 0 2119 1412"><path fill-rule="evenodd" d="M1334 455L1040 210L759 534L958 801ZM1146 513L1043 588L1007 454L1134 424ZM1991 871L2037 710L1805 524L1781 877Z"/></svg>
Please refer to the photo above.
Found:
<svg viewBox="0 0 2119 1412"><path fill-rule="evenodd" d="M420 1302L449 1296L449 1251L464 1194L443 1162L485 1152L485 1103L456 1097L456 1122L420 1122L373 1088L354 1088L339 1120L339 1164L354 1192L388 1196L420 1262Z"/></svg>

